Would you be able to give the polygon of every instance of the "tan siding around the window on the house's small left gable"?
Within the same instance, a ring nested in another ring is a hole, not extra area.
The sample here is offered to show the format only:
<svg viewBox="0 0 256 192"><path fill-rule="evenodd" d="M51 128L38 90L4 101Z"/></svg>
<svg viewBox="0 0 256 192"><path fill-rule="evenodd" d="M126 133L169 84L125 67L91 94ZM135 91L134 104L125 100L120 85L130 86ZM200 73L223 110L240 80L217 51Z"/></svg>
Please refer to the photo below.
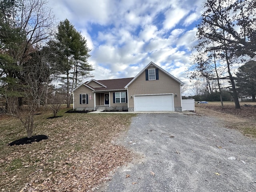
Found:
<svg viewBox="0 0 256 192"><path fill-rule="evenodd" d="M88 98L88 104L80 104L80 94L88 94L88 97L92 96L92 99ZM80 86L74 91L74 109L77 108L94 108L94 93L92 90L84 85Z"/></svg>

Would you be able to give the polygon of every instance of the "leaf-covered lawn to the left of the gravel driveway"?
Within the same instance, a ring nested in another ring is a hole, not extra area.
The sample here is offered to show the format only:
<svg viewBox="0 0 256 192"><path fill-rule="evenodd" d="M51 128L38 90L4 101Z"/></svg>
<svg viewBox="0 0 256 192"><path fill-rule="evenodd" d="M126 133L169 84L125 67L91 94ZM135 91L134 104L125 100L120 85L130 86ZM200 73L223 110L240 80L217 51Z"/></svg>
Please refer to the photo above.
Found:
<svg viewBox="0 0 256 192"><path fill-rule="evenodd" d="M0 115L0 190L3 192L83 192L109 179L132 160L130 151L112 143L130 125L132 114L74 114L46 119L35 116L33 135L47 140L8 146L26 137L18 119Z"/></svg>

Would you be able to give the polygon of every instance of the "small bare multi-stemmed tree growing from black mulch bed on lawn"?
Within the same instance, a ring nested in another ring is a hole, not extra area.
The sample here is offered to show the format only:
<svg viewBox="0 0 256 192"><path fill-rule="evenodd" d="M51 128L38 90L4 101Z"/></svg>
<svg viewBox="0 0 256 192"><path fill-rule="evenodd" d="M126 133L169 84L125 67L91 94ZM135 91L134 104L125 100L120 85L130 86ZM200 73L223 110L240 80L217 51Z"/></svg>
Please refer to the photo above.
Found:
<svg viewBox="0 0 256 192"><path fill-rule="evenodd" d="M19 93L18 96L23 98L24 106L18 106L17 96L12 96L6 101L10 102L9 114L20 119L30 138L34 128L34 115L40 110L40 103L44 101L51 82L52 73L47 55L42 52L32 54L32 58L23 65L20 73L22 78L19 83L22 94Z"/></svg>

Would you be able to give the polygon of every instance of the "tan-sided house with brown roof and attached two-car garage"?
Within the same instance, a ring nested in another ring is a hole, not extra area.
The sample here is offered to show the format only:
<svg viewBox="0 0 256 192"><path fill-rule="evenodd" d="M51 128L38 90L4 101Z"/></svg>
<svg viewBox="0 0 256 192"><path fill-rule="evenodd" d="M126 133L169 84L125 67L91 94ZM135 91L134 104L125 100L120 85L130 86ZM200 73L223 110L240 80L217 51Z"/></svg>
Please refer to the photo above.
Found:
<svg viewBox="0 0 256 192"><path fill-rule="evenodd" d="M182 111L184 83L150 62L134 78L94 80L73 90L74 110Z"/></svg>

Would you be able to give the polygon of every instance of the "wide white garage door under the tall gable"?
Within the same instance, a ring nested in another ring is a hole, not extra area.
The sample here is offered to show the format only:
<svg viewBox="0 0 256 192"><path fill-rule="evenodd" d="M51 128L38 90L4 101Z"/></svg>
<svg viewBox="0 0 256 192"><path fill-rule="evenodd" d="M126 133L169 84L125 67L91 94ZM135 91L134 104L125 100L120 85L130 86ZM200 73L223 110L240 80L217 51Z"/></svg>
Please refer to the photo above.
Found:
<svg viewBox="0 0 256 192"><path fill-rule="evenodd" d="M173 94L135 95L134 111L174 111Z"/></svg>

